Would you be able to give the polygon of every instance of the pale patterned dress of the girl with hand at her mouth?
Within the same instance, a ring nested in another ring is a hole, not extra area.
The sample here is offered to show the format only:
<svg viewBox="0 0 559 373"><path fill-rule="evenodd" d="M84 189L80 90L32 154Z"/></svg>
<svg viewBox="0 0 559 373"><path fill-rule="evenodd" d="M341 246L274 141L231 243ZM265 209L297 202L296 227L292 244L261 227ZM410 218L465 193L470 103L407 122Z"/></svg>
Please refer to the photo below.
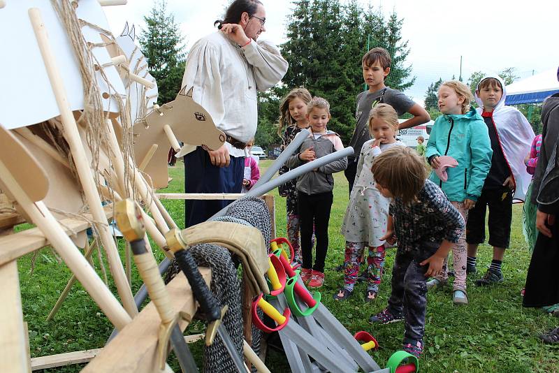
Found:
<svg viewBox="0 0 559 373"><path fill-rule="evenodd" d="M392 144L371 147L375 139L368 140L361 147L357 163L356 180L351 189L349 204L342 222L342 235L347 242L368 242L371 247L384 244L380 237L386 234L390 198L382 196L375 185L371 172L375 156L393 146L404 146L400 140Z"/></svg>

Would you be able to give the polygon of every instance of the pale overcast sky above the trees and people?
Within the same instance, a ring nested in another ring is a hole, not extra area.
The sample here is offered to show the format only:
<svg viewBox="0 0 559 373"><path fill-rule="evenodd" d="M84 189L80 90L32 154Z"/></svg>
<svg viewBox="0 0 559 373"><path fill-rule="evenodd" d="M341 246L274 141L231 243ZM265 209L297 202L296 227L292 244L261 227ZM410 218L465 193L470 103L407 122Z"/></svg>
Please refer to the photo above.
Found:
<svg viewBox="0 0 559 373"><path fill-rule="evenodd" d="M266 8L266 29L261 35L274 43L285 41L286 17L293 5L288 0L262 0ZM369 1L361 0L364 6ZM558 0L382 0L370 1L403 18L402 39L409 41L407 63L413 65L414 86L406 94L421 102L431 82L460 75L463 58L464 80L474 71L502 71L516 68L525 78L532 71L559 65ZM152 0L129 0L126 6L106 7L114 34L124 22L145 27ZM213 22L222 18L228 0L168 0L186 38L187 50L198 38L215 31ZM320 20L317 20L320 22ZM361 56L355 56L361 59ZM360 87L356 87L356 93Z"/></svg>

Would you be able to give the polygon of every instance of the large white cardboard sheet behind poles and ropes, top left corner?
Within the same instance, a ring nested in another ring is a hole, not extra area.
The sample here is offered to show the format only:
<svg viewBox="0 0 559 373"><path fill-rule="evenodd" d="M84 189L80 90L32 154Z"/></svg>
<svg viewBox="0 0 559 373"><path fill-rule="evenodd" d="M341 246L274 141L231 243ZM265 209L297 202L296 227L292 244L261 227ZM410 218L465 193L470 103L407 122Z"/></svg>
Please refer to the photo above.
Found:
<svg viewBox="0 0 559 373"><path fill-rule="evenodd" d="M80 0L79 4L78 17L108 29L105 13L96 0ZM41 10L51 48L56 54L57 65L64 78L71 110L83 109L78 62L50 0L9 1L0 10L0 50L3 53L0 59L0 123L6 129L43 122L60 114L31 27L27 13L29 8ZM83 27L82 32L87 41L101 43L98 31ZM95 48L94 54L100 64L110 62L105 48ZM124 86L116 69L110 66L105 71L116 91L124 94ZM99 75L97 76L99 82ZM99 83L101 92L108 92L105 82ZM103 107L107 111L117 111L116 103L108 99L103 99Z"/></svg>

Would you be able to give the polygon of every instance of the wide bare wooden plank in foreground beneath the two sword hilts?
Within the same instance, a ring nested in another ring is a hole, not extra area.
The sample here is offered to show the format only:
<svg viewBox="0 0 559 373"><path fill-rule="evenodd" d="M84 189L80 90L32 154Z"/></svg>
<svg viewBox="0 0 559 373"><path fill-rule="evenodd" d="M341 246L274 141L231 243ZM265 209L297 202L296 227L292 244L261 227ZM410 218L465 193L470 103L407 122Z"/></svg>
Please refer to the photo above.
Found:
<svg viewBox="0 0 559 373"><path fill-rule="evenodd" d="M210 268L200 268L208 285L211 279ZM194 315L197 304L194 302L187 279L182 272L166 286L173 303L173 309ZM157 361L157 335L161 319L150 302L109 342L85 368L82 373L91 372L159 372ZM180 329L187 328L187 321L179 323Z"/></svg>

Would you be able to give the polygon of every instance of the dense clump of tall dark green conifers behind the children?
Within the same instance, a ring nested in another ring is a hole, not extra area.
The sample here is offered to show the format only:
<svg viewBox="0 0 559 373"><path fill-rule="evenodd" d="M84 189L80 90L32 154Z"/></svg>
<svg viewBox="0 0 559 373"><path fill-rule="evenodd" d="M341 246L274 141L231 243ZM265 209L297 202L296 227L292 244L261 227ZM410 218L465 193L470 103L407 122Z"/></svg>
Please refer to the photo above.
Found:
<svg viewBox="0 0 559 373"><path fill-rule="evenodd" d="M293 87L305 87L314 96L331 103L328 128L348 142L355 127L355 97L363 91L361 57L367 47L384 47L392 57L386 85L404 90L410 87L409 54L402 42L402 20L393 13L386 21L379 10L363 9L356 0L342 5L340 0L294 0L287 21L287 41L281 46L289 70L276 89L283 96ZM369 45L368 45L369 41Z"/></svg>

